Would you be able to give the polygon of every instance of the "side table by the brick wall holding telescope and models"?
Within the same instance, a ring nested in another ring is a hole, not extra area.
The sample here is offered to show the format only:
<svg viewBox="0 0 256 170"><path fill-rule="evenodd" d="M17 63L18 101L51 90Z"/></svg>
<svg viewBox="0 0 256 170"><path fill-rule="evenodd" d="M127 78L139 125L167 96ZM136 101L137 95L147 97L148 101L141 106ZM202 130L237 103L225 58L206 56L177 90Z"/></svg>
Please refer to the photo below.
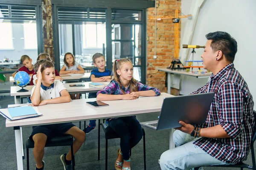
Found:
<svg viewBox="0 0 256 170"><path fill-rule="evenodd" d="M191 72L186 72L185 70L171 70L169 68L162 68L162 67L156 67L155 68L158 71L164 71L167 73L167 93L171 94L171 74L178 74L178 75L186 75L186 76L192 76L196 78L208 78L212 75L212 73L204 73L204 74L193 74Z"/></svg>

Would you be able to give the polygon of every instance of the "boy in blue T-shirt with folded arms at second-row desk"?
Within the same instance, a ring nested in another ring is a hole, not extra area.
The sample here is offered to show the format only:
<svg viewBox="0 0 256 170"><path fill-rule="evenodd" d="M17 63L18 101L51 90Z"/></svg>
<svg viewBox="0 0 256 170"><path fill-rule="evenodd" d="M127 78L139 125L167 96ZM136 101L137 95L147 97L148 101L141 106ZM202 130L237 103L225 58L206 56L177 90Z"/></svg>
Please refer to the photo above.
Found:
<svg viewBox="0 0 256 170"><path fill-rule="evenodd" d="M93 55L93 65L97 67L97 69L93 69L91 71L90 79L92 82L108 82L111 81L112 71L109 69L105 69L105 57L101 53L96 53ZM97 93L89 93L90 98L96 98ZM93 130L96 126L96 120L90 120L89 125L83 130L84 133L88 134L91 130Z"/></svg>

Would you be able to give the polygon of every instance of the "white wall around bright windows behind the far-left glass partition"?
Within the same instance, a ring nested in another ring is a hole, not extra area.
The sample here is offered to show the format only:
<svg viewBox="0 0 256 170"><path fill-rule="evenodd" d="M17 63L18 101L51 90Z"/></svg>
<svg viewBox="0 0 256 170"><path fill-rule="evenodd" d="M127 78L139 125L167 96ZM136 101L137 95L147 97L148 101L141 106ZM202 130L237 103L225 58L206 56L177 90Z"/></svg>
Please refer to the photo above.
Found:
<svg viewBox="0 0 256 170"><path fill-rule="evenodd" d="M1 61L3 61L4 58L9 58L9 60L20 60L20 57L26 54L30 58L32 58L33 63L35 63L38 57L38 50L24 49L24 39L20 39L24 38L23 34L23 25L21 23L12 23L12 37L14 50L0 50Z"/></svg>

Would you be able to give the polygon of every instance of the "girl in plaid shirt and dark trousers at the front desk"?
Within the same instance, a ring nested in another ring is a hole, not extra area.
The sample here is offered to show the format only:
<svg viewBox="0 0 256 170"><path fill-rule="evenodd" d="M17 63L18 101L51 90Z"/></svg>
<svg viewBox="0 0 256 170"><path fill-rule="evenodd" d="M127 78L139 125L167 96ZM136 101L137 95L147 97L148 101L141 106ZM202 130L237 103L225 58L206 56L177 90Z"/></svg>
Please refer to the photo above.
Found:
<svg viewBox="0 0 256 170"><path fill-rule="evenodd" d="M116 59L113 63L113 74L114 80L103 90L98 91L97 100L134 100L139 96L160 95L157 88L143 85L133 78L133 65L130 59ZM115 169L131 170L129 150L142 139L140 122L135 116L125 116L109 119L109 126L121 138L121 148L117 151Z"/></svg>

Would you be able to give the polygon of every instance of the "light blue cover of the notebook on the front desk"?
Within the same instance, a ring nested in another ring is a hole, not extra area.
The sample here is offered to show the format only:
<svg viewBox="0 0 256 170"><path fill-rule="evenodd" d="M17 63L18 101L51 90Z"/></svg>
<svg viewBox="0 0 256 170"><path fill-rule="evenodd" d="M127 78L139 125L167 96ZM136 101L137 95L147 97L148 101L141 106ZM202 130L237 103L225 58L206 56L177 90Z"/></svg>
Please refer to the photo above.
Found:
<svg viewBox="0 0 256 170"><path fill-rule="evenodd" d="M7 108L10 116L12 119L14 117L18 116L28 116L28 115L33 115L37 114L35 109L32 106L23 106L23 107L15 107L15 108Z"/></svg>

